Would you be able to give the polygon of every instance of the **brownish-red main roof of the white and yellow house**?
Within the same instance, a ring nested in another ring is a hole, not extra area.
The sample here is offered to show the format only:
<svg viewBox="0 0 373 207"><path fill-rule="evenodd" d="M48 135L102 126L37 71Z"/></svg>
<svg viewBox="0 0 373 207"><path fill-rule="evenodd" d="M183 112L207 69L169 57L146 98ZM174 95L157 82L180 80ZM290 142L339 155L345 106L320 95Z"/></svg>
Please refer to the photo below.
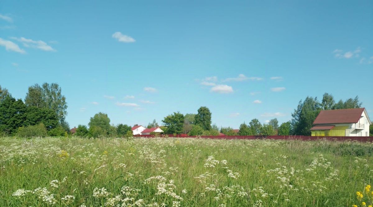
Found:
<svg viewBox="0 0 373 207"><path fill-rule="evenodd" d="M364 108L323 110L317 115L313 124L357 123Z"/></svg>

